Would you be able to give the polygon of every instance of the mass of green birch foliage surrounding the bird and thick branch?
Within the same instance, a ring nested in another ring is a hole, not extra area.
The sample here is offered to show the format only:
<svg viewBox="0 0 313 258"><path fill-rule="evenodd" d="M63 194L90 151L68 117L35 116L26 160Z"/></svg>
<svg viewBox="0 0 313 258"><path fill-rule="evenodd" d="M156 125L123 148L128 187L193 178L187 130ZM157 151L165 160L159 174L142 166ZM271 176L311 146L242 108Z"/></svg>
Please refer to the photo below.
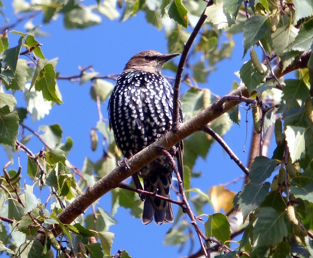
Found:
<svg viewBox="0 0 313 258"><path fill-rule="evenodd" d="M237 194L222 186L193 188L192 179L206 172L194 171L196 160L206 158L214 139L204 132L192 134L184 139L186 196L195 215L205 219L202 225L205 240L213 241L214 238L218 246L228 252L223 254L220 248L220 256L235 257L242 252L249 253L250 257L312 256L313 2L250 0L247 5L243 0L216 0L207 7L206 4L196 0L98 0L94 5L85 6L73 0L39 0L36 4L13 1L17 13L40 13L44 23L62 16L67 29L97 25L102 16L125 21L144 12L147 22L158 30L165 29L170 53L184 50L191 30L204 12L207 20L193 43L191 58L185 64L183 82L188 89L181 97L185 120L219 99L208 89L208 77L219 61L231 56L235 44L232 35L242 33L243 56L251 48L258 51L251 52L251 60L242 65L239 78L248 95L256 99L254 104L261 114L256 121L260 123L261 137L275 120L282 122L279 130L275 130L275 151L271 158L255 157L247 183ZM11 33L19 35L17 42L9 42ZM59 75L55 71L57 59L45 58L44 49L37 41L38 33L42 33L39 26L33 26L26 33L1 32L0 143L25 152L27 176L35 181L34 187L46 187L50 194L41 200L34 194L33 186L22 186L21 178L14 178L17 174L14 170L8 172L9 177L1 177L0 251L18 257L51 257L52 249L58 256L63 253L83 257L88 251L90 257L111 257L114 234L109 230L117 223L114 215L119 207L124 207L131 216L140 218L142 201L137 194L116 188L111 191L110 211L95 202L93 212L82 214L75 223L63 223L58 217L78 195L108 175L122 158L102 114L99 114L98 123L92 125L90 141L93 150L99 143L105 143L103 155L95 162L86 157L81 170L67 159L73 142L70 138L63 139L59 124L42 125L41 134L30 130L45 144L45 149L37 154L26 147L31 136L22 134L18 141L19 129L29 128L23 124L27 115L34 121L39 120L48 115L55 103L63 103L57 84ZM256 56L261 51L262 64ZM271 57L276 57L275 62ZM177 65L169 63L165 68L176 71ZM294 77L283 77L294 70ZM110 96L113 84L107 80L110 77L103 79L98 74L86 68L76 79L80 84L90 83L90 98L101 105ZM232 85L229 86L232 89ZM24 94L22 107L18 107L17 92ZM239 106L217 117L209 126L223 137L233 123L239 123ZM262 144L260 146L262 148ZM12 151L8 150L8 153ZM22 177L25 176L22 173ZM231 203L233 198L234 205ZM205 214L207 203L212 204L216 213ZM288 213L290 207L293 217ZM219 212L221 208L228 217ZM229 249L228 242L235 227L229 215L233 208L242 213L241 228L245 228L235 251ZM164 241L184 247L188 241L193 241L192 225L187 223L181 210L175 218ZM39 235L45 236L44 240ZM94 238L98 242L94 242ZM65 246L64 239L67 240ZM120 255L130 257L126 251Z"/></svg>

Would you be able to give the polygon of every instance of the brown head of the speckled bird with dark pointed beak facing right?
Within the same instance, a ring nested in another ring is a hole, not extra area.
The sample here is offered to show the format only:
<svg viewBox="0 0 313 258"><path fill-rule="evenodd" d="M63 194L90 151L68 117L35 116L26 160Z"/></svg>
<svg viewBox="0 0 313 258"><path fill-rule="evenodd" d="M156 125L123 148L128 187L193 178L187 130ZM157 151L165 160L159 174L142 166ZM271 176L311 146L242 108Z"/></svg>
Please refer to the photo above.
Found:
<svg viewBox="0 0 313 258"><path fill-rule="evenodd" d="M147 50L135 54L125 65L124 72L140 70L148 73L160 74L163 65L168 60L180 54L161 54L155 50Z"/></svg>

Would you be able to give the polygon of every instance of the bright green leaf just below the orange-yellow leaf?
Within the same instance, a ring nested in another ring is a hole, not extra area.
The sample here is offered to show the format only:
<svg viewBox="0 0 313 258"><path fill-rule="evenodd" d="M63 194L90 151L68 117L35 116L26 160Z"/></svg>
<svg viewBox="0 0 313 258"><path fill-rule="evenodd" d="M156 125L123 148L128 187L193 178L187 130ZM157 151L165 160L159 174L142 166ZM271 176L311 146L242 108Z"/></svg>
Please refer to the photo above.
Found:
<svg viewBox="0 0 313 258"><path fill-rule="evenodd" d="M204 228L205 236L208 238L215 237L223 243L230 239L230 225L227 217L222 213L209 215Z"/></svg>

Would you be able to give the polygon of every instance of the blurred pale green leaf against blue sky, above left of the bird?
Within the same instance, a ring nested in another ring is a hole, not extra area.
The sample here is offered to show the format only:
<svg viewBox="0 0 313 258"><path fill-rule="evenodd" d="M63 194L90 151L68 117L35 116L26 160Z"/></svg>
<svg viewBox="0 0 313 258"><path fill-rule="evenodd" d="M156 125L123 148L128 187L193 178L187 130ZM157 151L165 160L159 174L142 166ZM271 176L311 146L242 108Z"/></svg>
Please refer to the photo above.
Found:
<svg viewBox="0 0 313 258"><path fill-rule="evenodd" d="M88 7L78 7L66 12L64 20L67 29L83 29L101 23L101 17Z"/></svg>

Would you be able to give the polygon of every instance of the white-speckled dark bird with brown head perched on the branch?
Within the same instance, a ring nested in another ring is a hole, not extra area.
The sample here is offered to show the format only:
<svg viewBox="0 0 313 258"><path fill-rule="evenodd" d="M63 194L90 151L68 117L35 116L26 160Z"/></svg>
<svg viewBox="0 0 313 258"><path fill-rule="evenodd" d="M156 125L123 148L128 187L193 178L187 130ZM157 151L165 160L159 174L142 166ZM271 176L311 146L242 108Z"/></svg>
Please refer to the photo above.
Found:
<svg viewBox="0 0 313 258"><path fill-rule="evenodd" d="M155 50L140 52L126 63L117 78L108 104L109 125L124 158L131 158L170 130L174 94L161 70L165 62L177 56L179 54L161 54ZM179 122L182 121L179 103ZM177 160L183 179L182 141L170 153ZM140 170L143 189L170 198L173 171L169 158L160 156ZM133 180L135 186L142 189L137 174ZM153 219L157 225L174 221L170 202L148 195L142 199L144 224Z"/></svg>

